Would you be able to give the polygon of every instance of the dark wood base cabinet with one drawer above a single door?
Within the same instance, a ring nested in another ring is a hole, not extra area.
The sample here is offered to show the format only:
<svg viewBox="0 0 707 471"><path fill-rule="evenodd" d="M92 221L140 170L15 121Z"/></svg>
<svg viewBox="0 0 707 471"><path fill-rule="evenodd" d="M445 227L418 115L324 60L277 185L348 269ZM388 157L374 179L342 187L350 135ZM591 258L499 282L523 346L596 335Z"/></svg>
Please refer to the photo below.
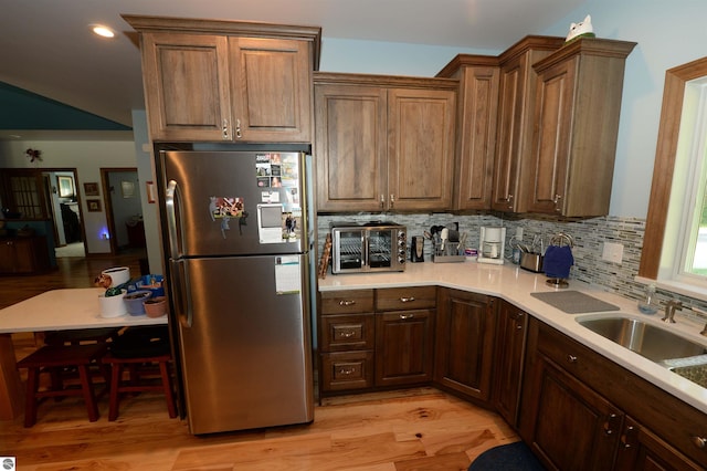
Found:
<svg viewBox="0 0 707 471"><path fill-rule="evenodd" d="M376 291L376 386L432 380L436 287Z"/></svg>

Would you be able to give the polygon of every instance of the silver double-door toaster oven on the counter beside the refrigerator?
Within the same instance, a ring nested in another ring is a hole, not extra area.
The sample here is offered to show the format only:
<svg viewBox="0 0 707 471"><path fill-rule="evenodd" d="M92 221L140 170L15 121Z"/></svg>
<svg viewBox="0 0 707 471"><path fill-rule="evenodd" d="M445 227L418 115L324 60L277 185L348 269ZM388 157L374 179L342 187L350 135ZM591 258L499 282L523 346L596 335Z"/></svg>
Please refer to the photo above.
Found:
<svg viewBox="0 0 707 471"><path fill-rule="evenodd" d="M407 242L393 222L331 224L331 273L404 271Z"/></svg>

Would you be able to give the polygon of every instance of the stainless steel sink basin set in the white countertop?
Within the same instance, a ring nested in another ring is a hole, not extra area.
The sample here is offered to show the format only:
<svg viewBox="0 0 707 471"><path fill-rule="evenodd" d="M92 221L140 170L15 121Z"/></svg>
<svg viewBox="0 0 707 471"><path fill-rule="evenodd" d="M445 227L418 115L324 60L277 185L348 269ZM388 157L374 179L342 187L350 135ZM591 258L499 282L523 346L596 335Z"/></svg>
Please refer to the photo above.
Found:
<svg viewBox="0 0 707 471"><path fill-rule="evenodd" d="M663 328L632 317L590 317L578 318L577 322L655 363L707 354L706 346L682 337L668 327Z"/></svg>

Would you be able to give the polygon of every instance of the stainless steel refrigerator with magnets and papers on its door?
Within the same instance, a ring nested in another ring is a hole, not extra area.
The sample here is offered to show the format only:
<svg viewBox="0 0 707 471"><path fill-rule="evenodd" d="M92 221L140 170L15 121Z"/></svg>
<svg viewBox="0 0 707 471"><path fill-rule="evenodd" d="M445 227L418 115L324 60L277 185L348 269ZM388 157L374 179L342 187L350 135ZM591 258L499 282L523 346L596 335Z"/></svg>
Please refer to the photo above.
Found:
<svg viewBox="0 0 707 471"><path fill-rule="evenodd" d="M190 431L312 421L306 156L160 151L158 165Z"/></svg>

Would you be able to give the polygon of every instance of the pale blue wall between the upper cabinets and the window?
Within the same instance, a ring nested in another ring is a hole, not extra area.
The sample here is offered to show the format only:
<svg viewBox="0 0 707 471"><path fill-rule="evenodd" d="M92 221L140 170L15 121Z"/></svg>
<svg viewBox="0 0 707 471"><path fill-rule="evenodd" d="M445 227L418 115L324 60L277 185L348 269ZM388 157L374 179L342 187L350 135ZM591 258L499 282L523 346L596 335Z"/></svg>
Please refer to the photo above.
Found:
<svg viewBox="0 0 707 471"><path fill-rule="evenodd" d="M626 61L610 213L645 218L665 71L707 55L707 1L588 0L544 33L566 35L588 13L597 36L639 43Z"/></svg>

